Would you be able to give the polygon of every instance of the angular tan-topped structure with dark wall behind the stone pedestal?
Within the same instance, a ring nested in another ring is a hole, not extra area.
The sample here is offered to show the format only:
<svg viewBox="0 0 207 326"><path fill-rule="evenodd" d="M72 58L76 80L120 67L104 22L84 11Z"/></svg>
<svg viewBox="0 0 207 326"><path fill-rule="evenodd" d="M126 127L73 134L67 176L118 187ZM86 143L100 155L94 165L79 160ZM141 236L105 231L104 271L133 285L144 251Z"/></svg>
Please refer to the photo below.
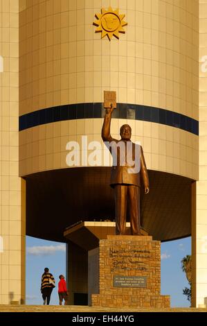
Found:
<svg viewBox="0 0 207 326"><path fill-rule="evenodd" d="M130 223L127 222L126 232L130 231ZM64 231L68 244L66 268L69 304L91 305L91 294L99 293L99 241L115 232L116 223L111 221L80 221ZM148 235L143 228L141 233Z"/></svg>

